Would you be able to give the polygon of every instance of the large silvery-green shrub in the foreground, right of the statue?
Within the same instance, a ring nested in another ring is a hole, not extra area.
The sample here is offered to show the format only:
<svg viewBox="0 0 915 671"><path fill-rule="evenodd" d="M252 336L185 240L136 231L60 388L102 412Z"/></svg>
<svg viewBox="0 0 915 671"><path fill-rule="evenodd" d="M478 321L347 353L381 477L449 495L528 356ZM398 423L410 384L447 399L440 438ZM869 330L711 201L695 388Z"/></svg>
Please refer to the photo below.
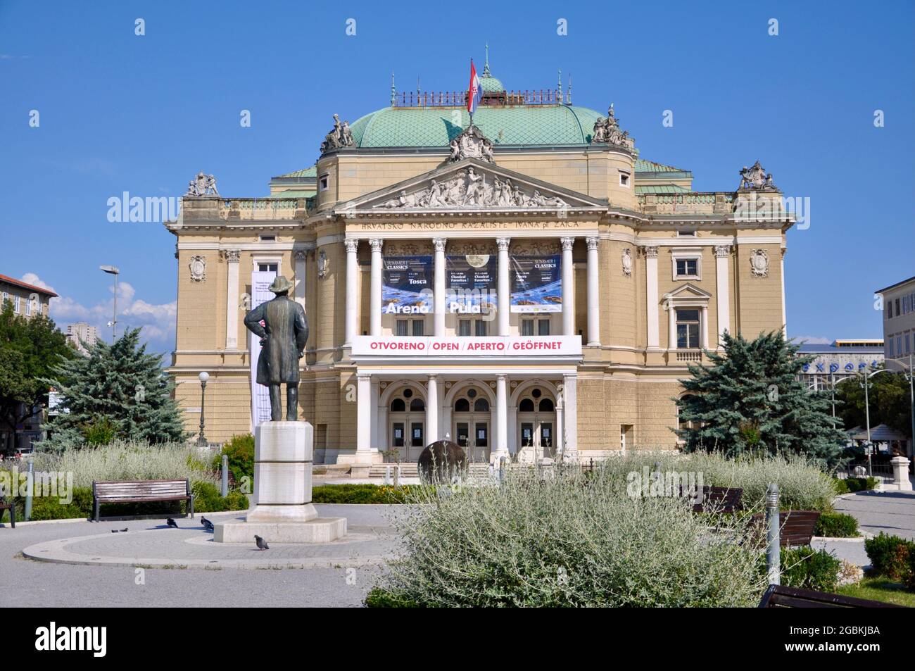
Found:
<svg viewBox="0 0 915 671"><path fill-rule="evenodd" d="M425 606L759 601L765 577L746 517L694 514L679 498L633 498L617 465L543 480L510 473L501 486L457 492L417 488L420 505L394 517L403 547L382 589Z"/></svg>

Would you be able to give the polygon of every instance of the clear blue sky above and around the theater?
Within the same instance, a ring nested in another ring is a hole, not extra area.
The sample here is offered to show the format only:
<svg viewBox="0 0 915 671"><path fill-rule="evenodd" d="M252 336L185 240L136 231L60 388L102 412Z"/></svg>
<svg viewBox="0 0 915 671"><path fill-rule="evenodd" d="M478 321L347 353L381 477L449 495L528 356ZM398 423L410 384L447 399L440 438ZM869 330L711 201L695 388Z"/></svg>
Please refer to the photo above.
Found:
<svg viewBox="0 0 915 671"><path fill-rule="evenodd" d="M392 71L399 90L417 77L458 90L489 41L507 88L571 73L574 103L615 103L641 157L692 170L694 189L734 189L759 159L787 196L810 199L810 227L788 237L789 334L878 338L873 291L915 275L913 26L909 0L0 0L0 274L53 287L61 325L103 325L112 291L97 268L118 265L120 323L168 352L175 239L159 223L108 222L109 198L178 196L199 169L223 195L263 195L271 176L315 161L331 114L388 104Z"/></svg>

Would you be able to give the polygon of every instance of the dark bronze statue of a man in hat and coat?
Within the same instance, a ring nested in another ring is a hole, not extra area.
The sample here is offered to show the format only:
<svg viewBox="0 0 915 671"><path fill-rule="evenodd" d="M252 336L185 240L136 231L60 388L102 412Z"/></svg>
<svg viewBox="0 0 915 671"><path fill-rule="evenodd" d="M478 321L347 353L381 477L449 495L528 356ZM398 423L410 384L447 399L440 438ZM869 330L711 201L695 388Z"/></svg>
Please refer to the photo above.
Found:
<svg viewBox="0 0 915 671"><path fill-rule="evenodd" d="M286 421L298 417L298 360L305 353L308 322L305 308L289 299L292 282L277 276L270 290L273 300L257 306L244 317L248 330L261 338L261 355L257 360L257 384L270 387L270 418L280 420L280 384L286 385ZM261 322L264 326L261 326Z"/></svg>

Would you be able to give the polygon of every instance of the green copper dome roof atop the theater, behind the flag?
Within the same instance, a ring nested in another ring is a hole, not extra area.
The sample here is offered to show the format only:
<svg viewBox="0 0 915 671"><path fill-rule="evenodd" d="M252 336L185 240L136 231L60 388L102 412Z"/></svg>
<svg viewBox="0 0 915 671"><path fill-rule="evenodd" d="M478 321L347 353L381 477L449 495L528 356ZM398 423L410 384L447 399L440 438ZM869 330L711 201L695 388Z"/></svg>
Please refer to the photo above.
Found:
<svg viewBox="0 0 915 671"><path fill-rule="evenodd" d="M487 80L499 82L493 77L482 81ZM587 145L598 116L574 105L480 105L473 124L494 145ZM385 107L366 114L350 129L359 147L446 147L469 124L464 107Z"/></svg>

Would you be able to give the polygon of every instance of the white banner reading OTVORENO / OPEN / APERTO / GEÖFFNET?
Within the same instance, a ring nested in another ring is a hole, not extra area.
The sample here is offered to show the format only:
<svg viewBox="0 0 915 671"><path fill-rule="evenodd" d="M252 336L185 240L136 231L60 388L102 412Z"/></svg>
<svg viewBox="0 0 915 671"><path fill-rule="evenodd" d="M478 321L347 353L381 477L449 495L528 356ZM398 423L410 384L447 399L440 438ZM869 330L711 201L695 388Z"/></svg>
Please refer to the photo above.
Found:
<svg viewBox="0 0 915 671"><path fill-rule="evenodd" d="M356 336L352 356L425 358L581 356L581 336Z"/></svg>

